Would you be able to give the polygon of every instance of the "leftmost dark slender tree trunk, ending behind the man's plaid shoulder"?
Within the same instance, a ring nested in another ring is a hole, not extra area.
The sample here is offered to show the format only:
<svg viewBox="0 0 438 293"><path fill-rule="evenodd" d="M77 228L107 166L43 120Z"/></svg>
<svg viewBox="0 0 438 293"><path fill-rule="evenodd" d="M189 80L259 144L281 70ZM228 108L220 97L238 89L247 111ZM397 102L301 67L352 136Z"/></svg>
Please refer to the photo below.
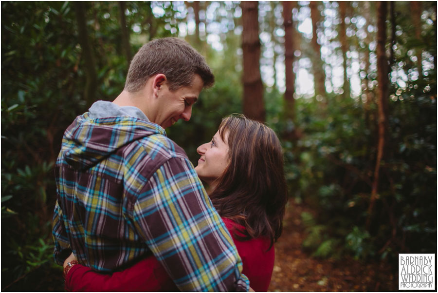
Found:
<svg viewBox="0 0 438 293"><path fill-rule="evenodd" d="M94 59L94 53L91 48L90 41L87 34L87 20L85 18L85 3L82 1L74 1L74 10L76 12L76 21L78 29L79 44L82 48L82 55L85 60L85 93L84 99L87 109L94 101L94 93L96 91L96 62Z"/></svg>

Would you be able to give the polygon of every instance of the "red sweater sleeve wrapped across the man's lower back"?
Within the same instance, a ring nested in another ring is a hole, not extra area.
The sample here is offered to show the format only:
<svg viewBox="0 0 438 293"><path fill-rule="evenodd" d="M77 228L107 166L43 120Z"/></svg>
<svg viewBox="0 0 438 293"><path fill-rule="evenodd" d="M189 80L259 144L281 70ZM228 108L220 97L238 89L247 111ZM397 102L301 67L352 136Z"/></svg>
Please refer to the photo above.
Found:
<svg viewBox="0 0 438 293"><path fill-rule="evenodd" d="M88 267L74 265L67 273L65 290L69 292L101 291L179 291L154 256L112 274L96 273Z"/></svg>

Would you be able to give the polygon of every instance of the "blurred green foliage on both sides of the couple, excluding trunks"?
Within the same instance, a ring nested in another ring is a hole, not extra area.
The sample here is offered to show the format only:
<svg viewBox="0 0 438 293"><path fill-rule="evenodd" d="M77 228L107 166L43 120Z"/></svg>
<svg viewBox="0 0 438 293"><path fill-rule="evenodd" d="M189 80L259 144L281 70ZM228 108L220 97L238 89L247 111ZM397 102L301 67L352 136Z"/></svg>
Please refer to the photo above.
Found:
<svg viewBox="0 0 438 293"><path fill-rule="evenodd" d="M118 2L85 5L88 38L96 59L94 100L112 100L124 87L129 62L120 41L120 6ZM149 39L177 36L184 27L180 24L187 20L185 8L181 9L184 5L175 1L126 2L131 54ZM206 56L217 82L201 93L189 122L178 122L166 130L195 164L197 147L211 139L221 118L242 112L241 35L234 31L240 25L235 17L238 3L211 5L225 8L225 13L219 8L209 12L216 24L220 23L218 37L223 50L213 49L205 42L206 36L185 38ZM262 5L275 8L279 3ZM330 5L336 7L335 2ZM342 99L333 93L326 97L326 107L315 98L297 98L294 121L285 116L282 93L275 85L265 87L266 123L282 140L291 199L315 211L315 216L301 215L306 233L302 245L315 257L349 253L366 259L436 251L437 74L430 65L436 64L437 56L433 5L423 4L418 40L409 5L396 2L397 39L386 98L385 149L371 214L367 210L377 152L376 68L367 76L372 84L367 104L360 98ZM279 26L281 11L277 8L267 9L261 16L265 34ZM26 280L37 268L54 266L50 227L56 195L54 162L63 131L87 110L84 85L89 64L78 44L72 2L3 1L1 9L4 288L20 278ZM274 16L275 21L264 18ZM211 25L209 20L201 21L205 27ZM349 26L354 29L353 24ZM375 57L358 36L351 39L362 47L357 47L359 53ZM281 37L272 39L274 49L263 41L263 53L272 49L280 60ZM308 54L306 46L308 40L304 39L300 45L303 56ZM416 76L416 50L422 50L423 60L430 65L423 67L420 78ZM269 65L270 60L262 61ZM295 138L289 135L293 132ZM366 229L368 218L371 224Z"/></svg>

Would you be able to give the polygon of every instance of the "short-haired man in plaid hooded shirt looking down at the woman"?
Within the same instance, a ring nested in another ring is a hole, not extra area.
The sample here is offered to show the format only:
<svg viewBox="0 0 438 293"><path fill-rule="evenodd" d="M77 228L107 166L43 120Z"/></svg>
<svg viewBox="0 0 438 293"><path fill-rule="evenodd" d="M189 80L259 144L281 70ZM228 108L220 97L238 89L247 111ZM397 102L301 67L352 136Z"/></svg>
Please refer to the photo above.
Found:
<svg viewBox="0 0 438 293"><path fill-rule="evenodd" d="M55 259L102 272L153 253L182 291L248 291L240 257L183 149L164 128L189 120L214 76L185 41L156 39L125 89L64 133L56 161ZM145 276L146 277L146 276Z"/></svg>

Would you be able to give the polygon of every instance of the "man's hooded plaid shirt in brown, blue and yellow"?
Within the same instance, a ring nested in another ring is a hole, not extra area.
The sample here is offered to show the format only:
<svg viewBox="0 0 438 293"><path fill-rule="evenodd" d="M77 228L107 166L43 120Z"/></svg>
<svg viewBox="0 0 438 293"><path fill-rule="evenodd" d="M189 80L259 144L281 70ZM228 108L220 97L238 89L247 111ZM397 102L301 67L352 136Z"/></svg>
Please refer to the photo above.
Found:
<svg viewBox="0 0 438 293"><path fill-rule="evenodd" d="M134 117L77 117L56 161L55 259L111 272L153 253L182 291L248 291L183 149Z"/></svg>

